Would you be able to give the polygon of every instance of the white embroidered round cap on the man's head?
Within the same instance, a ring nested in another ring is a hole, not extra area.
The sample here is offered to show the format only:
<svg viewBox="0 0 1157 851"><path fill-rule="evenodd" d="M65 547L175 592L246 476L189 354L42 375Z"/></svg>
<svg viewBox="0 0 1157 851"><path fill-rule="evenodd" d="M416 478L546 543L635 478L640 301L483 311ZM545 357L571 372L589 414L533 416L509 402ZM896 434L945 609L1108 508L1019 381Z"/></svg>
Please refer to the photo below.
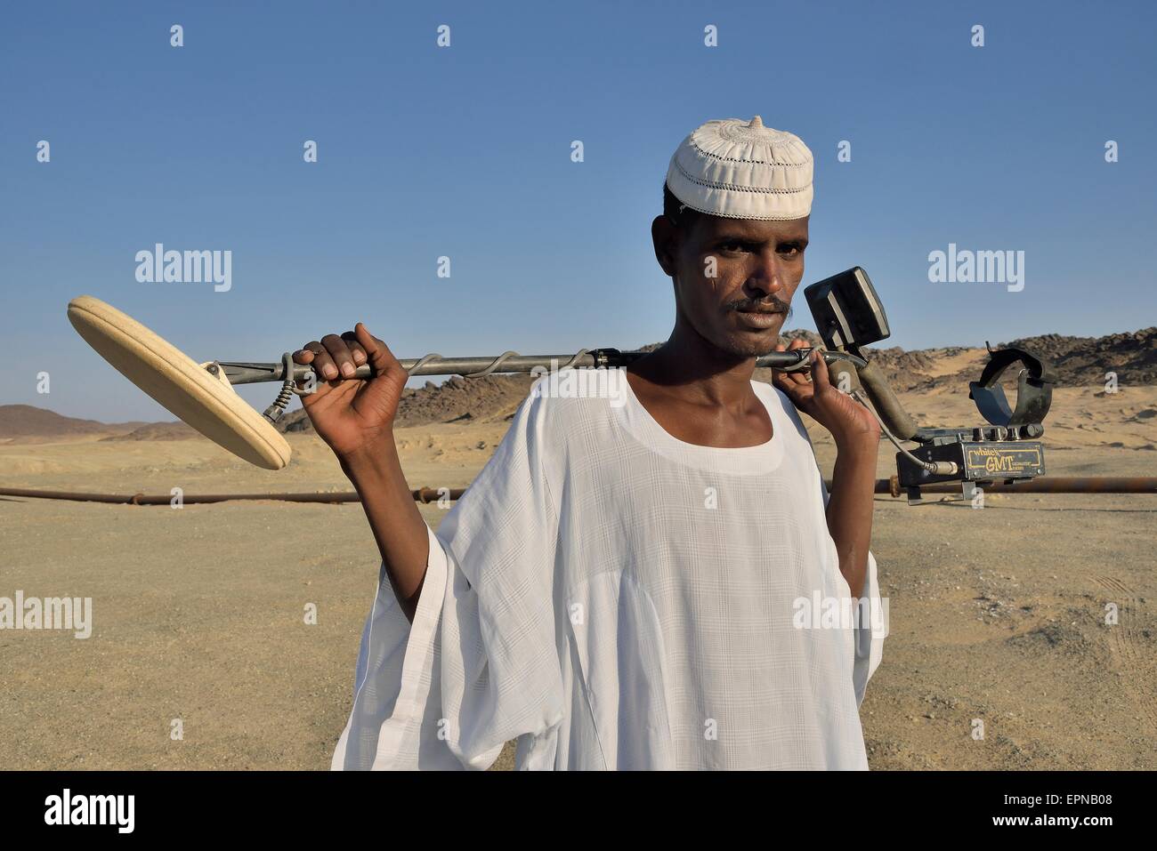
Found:
<svg viewBox="0 0 1157 851"><path fill-rule="evenodd" d="M811 213L812 157L799 136L759 116L707 121L671 157L666 185L680 204L727 219L803 219Z"/></svg>

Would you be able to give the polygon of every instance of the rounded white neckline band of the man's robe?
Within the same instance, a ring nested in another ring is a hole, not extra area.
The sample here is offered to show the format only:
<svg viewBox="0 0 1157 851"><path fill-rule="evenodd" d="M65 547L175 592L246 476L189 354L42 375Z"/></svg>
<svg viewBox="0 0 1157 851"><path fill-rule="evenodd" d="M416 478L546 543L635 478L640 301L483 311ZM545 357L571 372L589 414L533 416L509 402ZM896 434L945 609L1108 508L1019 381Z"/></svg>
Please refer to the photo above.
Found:
<svg viewBox="0 0 1157 851"><path fill-rule="evenodd" d="M774 404L767 399L767 392L775 393L772 385L765 384L765 387L760 387L760 382L754 379L751 382L756 397L772 420L771 439L754 446L701 446L698 443L680 441L651 416L631 386L626 370L622 380L627 385L626 404L618 409L619 416L627 430L648 449L691 467L739 475L768 473L780 466L783 459L783 441L791 423L783 414L779 398Z"/></svg>

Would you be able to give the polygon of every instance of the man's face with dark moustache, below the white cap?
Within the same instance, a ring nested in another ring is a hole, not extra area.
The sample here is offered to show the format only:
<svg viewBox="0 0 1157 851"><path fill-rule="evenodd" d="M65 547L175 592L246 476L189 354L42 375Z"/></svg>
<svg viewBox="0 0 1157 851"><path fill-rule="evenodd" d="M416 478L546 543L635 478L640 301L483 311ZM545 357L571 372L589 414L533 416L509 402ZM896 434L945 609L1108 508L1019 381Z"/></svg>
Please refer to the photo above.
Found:
<svg viewBox="0 0 1157 851"><path fill-rule="evenodd" d="M678 310L701 336L744 357L775 350L803 279L806 217L700 214L676 228L659 216L651 230L659 262L675 278Z"/></svg>

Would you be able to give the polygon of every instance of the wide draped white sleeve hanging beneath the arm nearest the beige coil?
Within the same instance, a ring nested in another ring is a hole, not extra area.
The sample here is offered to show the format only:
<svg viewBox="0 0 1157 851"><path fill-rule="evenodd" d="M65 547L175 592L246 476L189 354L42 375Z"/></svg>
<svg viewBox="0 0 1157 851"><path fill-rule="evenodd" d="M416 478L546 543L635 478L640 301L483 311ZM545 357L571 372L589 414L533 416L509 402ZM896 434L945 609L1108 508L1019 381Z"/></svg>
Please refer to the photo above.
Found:
<svg viewBox="0 0 1157 851"><path fill-rule="evenodd" d="M513 739L522 768L553 768L563 693L543 401L532 390L439 531L427 526L412 624L379 569L333 769L487 769Z"/></svg>

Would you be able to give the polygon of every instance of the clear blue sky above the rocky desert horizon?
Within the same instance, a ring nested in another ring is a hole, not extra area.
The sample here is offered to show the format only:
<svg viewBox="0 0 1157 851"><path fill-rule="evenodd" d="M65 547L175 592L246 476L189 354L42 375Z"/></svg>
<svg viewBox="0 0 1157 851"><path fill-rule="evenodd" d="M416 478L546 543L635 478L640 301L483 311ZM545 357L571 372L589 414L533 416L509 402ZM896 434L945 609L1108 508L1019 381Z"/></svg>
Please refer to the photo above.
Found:
<svg viewBox="0 0 1157 851"><path fill-rule="evenodd" d="M359 319L400 357L663 340L668 161L757 113L816 155L805 281L867 268L896 345L1154 325L1155 24L1147 2L6 5L0 404L171 419L73 332L80 294L196 360ZM159 242L231 251L231 289L138 282ZM1024 251L1024 289L930 283L949 243Z"/></svg>

